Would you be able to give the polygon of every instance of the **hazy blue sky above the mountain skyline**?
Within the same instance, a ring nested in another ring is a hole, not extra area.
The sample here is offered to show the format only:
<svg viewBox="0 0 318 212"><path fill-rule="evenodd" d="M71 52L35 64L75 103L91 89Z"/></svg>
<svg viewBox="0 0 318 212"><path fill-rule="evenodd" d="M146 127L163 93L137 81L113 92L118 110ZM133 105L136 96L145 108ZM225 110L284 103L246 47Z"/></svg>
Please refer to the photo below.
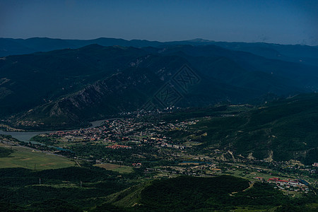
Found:
<svg viewBox="0 0 318 212"><path fill-rule="evenodd" d="M318 45L318 1L0 0L0 37Z"/></svg>

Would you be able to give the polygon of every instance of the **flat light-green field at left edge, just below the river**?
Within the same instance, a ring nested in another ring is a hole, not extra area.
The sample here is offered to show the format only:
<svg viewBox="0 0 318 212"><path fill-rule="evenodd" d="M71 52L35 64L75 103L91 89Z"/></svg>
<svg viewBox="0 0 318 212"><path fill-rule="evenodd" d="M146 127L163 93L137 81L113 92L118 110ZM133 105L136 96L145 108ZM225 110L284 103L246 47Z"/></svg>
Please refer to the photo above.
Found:
<svg viewBox="0 0 318 212"><path fill-rule="evenodd" d="M11 147L10 147L11 148ZM12 146L15 151L8 158L0 158L0 168L24 167L32 170L48 170L76 165L73 161L20 146Z"/></svg>

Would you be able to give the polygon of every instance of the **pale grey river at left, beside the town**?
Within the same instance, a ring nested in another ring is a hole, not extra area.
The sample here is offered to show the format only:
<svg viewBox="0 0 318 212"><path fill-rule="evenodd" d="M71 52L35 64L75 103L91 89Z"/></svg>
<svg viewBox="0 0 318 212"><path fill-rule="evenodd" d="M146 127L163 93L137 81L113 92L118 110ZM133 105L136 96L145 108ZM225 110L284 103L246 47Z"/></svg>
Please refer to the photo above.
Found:
<svg viewBox="0 0 318 212"><path fill-rule="evenodd" d="M90 122L92 126L89 126L85 129L93 128L95 126L100 126L100 124L102 124L102 122L104 122L105 120L107 119ZM76 129L73 129L73 130L76 130ZM30 141L32 137L37 136L38 134L48 134L51 132L54 132L54 131L2 131L0 130L0 134L11 135L13 138L18 139L19 141L24 141L24 142Z"/></svg>

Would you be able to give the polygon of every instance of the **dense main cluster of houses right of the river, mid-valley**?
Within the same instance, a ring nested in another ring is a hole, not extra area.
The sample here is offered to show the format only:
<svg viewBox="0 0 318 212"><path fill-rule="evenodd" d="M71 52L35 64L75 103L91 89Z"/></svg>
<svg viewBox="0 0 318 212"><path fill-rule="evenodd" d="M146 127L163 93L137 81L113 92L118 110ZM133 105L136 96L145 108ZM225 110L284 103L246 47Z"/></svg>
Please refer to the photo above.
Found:
<svg viewBox="0 0 318 212"><path fill-rule="evenodd" d="M198 120L175 123L160 122L158 124L153 124L148 122L136 122L136 119L112 119L106 120L102 126L95 128L56 131L50 133L49 136L64 138L65 141L73 143L105 142L105 147L112 149L131 148L130 146L126 146L127 143L125 143L125 141L132 141L141 143L140 145L150 144L157 148L176 148L183 150L185 146L172 143L169 141L170 138L161 135L160 131L184 130L187 129L187 126L196 124L196 122L198 122ZM123 141L124 143L122 143Z"/></svg>

